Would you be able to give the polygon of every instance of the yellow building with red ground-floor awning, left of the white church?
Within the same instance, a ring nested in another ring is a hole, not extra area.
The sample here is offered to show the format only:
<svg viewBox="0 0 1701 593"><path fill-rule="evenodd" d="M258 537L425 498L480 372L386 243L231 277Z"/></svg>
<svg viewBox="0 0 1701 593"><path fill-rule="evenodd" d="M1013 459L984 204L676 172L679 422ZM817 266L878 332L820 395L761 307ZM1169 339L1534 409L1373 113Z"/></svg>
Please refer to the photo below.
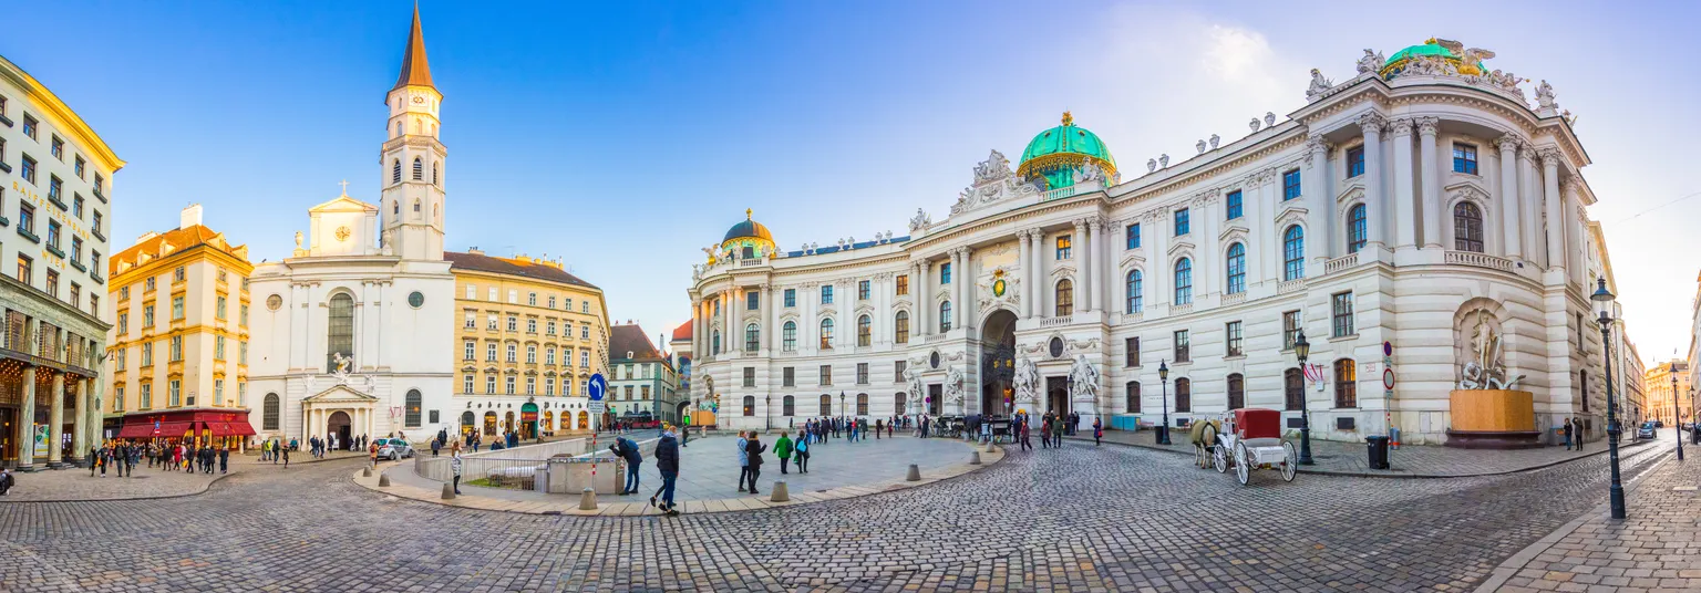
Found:
<svg viewBox="0 0 1701 593"><path fill-rule="evenodd" d="M109 265L104 437L243 445L255 433L247 401L248 246L202 226L194 204L177 229L143 234Z"/></svg>

